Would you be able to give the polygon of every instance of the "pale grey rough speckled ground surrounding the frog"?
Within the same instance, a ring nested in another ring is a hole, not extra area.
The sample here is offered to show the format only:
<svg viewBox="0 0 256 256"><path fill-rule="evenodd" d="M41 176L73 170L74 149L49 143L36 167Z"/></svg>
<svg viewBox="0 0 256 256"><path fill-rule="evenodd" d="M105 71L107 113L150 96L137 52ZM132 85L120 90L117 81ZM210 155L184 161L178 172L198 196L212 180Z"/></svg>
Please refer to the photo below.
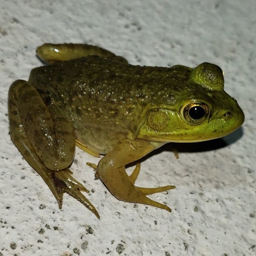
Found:
<svg viewBox="0 0 256 256"><path fill-rule="evenodd" d="M256 1L0 1L0 256L256 255ZM131 64L225 72L225 89L244 110L242 128L222 140L170 145L145 157L137 184L174 184L152 195L173 211L117 201L76 151L101 219L68 195L59 210L47 185L8 134L7 94L41 62L44 42L96 44Z"/></svg>

